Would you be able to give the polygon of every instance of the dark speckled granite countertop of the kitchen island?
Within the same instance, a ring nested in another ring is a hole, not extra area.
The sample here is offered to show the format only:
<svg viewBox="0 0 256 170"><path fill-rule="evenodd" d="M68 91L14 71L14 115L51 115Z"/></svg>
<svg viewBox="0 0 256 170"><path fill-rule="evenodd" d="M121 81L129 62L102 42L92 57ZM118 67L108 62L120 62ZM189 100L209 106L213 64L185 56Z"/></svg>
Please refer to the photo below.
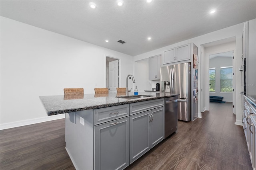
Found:
<svg viewBox="0 0 256 170"><path fill-rule="evenodd" d="M62 113L70 113L74 111L98 109L103 107L118 106L122 104L130 104L159 98L168 98L177 96L177 94L158 93L158 92L139 92L139 95L149 95L148 98L124 99L116 98L116 96L125 96L125 94L109 93L109 94L84 94L76 98L70 98L64 95L59 96L39 96L47 115L57 115ZM129 96L134 96L130 92Z"/></svg>

